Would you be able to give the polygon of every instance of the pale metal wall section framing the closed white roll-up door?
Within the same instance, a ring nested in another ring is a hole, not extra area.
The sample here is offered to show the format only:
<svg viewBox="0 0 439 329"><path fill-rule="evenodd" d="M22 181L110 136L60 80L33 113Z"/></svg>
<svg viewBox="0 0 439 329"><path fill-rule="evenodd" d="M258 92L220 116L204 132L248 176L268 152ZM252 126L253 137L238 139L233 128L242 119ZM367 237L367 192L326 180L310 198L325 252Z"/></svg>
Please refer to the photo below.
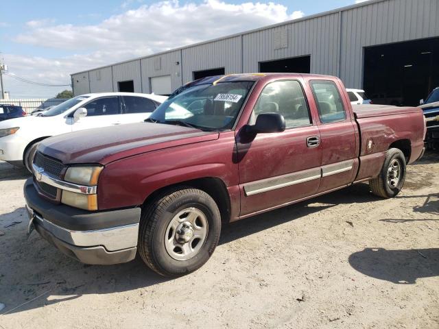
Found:
<svg viewBox="0 0 439 329"><path fill-rule="evenodd" d="M151 77L171 75L172 90L181 86L181 62L180 51L169 51L162 55L141 59L143 93L151 93Z"/></svg>

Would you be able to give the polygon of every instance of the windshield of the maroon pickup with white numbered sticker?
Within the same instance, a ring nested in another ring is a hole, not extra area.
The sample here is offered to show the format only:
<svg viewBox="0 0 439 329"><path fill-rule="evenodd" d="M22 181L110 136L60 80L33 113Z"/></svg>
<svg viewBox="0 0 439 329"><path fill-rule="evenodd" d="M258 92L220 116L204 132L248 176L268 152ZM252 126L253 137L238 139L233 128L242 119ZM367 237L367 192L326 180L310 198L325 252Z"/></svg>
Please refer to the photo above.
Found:
<svg viewBox="0 0 439 329"><path fill-rule="evenodd" d="M201 130L228 130L254 82L219 82L182 88L152 112L149 121Z"/></svg>

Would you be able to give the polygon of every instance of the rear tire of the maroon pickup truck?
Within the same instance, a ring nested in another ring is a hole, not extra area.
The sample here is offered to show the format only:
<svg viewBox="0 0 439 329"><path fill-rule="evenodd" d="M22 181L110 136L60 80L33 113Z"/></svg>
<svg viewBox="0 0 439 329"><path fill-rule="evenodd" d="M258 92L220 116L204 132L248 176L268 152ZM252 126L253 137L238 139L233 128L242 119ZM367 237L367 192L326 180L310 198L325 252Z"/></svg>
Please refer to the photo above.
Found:
<svg viewBox="0 0 439 329"><path fill-rule="evenodd" d="M400 168L399 179L396 183L391 179L392 175L390 175L390 167L394 167L395 163L398 163ZM376 178L369 180L370 191L372 191L373 194L386 199L396 197L401 191L401 188L403 188L406 167L407 165L405 163L403 152L400 149L389 149L385 154L384 164L379 175Z"/></svg>

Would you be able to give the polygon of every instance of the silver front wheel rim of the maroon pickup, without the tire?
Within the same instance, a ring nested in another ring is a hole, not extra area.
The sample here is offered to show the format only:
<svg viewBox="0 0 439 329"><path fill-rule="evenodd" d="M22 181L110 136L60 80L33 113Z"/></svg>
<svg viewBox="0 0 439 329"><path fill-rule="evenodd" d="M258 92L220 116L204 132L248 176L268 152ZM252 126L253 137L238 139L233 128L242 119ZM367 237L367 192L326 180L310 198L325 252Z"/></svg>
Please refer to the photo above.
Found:
<svg viewBox="0 0 439 329"><path fill-rule="evenodd" d="M197 208L178 212L165 232L166 251L176 260L188 260L200 252L209 232L206 215Z"/></svg>

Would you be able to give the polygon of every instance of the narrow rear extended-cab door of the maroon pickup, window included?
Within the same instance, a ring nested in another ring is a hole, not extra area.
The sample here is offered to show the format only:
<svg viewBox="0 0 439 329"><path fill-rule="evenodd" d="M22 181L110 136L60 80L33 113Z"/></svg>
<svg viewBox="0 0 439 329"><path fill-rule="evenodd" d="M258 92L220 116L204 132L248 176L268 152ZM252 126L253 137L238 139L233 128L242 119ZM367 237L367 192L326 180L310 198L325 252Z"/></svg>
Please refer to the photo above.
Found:
<svg viewBox="0 0 439 329"><path fill-rule="evenodd" d="M341 84L332 80L310 80L318 110L322 145L322 181L318 193L353 182L358 169L357 127Z"/></svg>

